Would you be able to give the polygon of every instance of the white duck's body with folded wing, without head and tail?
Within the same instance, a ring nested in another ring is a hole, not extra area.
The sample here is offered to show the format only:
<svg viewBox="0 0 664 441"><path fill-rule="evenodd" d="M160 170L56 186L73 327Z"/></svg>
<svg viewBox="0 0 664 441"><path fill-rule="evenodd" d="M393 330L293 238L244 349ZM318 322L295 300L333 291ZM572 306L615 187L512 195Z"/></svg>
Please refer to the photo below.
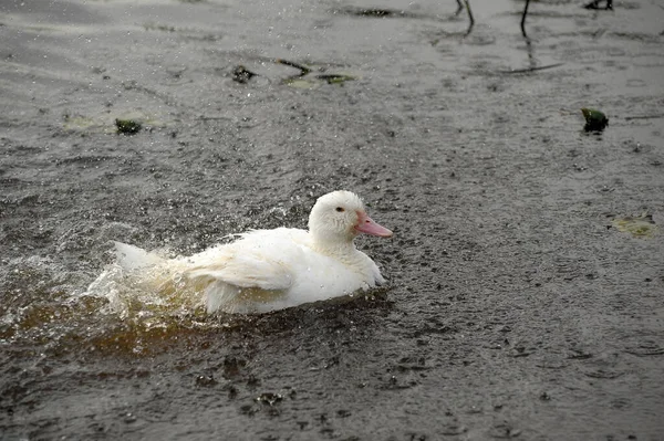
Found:
<svg viewBox="0 0 664 441"><path fill-rule="evenodd" d="M308 231L278 228L185 258L184 274L207 280L208 313L263 313L347 295L384 283L376 264L353 249L323 254Z"/></svg>

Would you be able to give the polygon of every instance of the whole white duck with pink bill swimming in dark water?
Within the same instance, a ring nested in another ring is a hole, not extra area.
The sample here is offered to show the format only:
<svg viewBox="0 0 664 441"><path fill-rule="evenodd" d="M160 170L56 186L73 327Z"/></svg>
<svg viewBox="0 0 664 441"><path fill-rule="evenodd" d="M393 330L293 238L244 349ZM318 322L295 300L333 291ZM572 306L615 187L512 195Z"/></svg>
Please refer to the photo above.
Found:
<svg viewBox="0 0 664 441"><path fill-rule="evenodd" d="M253 230L232 243L173 260L120 242L116 253L123 269L152 274L153 286L162 291L204 292L208 313L263 313L382 284L376 264L355 249L359 233L392 235L366 214L356 195L333 191L313 206L309 231Z"/></svg>

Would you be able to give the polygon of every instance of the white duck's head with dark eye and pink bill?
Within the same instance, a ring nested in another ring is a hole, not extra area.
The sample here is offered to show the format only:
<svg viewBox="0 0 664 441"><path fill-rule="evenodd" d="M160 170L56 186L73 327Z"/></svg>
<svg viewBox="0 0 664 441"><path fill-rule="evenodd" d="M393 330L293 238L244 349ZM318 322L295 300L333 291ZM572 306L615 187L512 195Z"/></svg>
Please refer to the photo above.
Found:
<svg viewBox="0 0 664 441"><path fill-rule="evenodd" d="M309 231L317 243L352 243L360 233L390 238L392 231L374 222L357 195L333 191L321 196L309 214Z"/></svg>

